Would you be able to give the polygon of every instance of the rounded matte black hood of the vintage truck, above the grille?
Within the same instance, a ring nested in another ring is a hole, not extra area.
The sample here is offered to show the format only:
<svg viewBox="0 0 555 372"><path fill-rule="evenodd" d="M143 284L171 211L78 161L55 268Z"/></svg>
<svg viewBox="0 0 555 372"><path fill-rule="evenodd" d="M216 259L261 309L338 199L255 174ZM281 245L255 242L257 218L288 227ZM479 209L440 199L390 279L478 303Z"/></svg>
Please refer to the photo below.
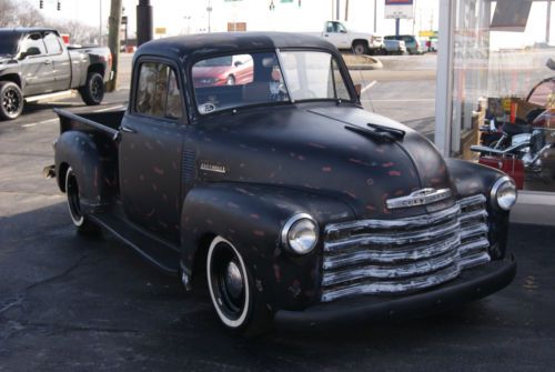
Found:
<svg viewBox="0 0 555 372"><path fill-rule="evenodd" d="M405 137L377 141L345 129L367 123L403 130ZM453 203L450 198L434 207L386 208L387 199L424 188L455 190L443 157L427 139L359 108L249 110L212 117L200 133L196 159L206 181L310 190L344 201L357 218L417 215Z"/></svg>

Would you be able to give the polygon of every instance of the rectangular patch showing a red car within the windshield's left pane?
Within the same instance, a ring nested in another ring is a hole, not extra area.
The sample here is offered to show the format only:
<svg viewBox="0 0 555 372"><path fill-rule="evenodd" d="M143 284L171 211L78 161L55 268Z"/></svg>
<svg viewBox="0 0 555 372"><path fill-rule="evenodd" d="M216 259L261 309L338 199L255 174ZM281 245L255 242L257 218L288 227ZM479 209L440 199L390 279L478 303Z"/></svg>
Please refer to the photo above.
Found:
<svg viewBox="0 0 555 372"><path fill-rule="evenodd" d="M243 86L252 82L253 63L249 54L225 56L193 66L194 88Z"/></svg>

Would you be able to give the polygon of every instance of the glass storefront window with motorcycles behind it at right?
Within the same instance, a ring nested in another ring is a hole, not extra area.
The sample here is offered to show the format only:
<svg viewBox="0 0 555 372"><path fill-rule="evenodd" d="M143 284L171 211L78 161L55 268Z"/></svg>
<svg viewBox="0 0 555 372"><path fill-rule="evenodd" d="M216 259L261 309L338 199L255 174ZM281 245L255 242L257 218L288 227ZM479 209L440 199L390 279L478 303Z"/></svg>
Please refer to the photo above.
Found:
<svg viewBox="0 0 555 372"><path fill-rule="evenodd" d="M457 0L453 40L452 155L500 168L534 191L555 191L555 44L547 7Z"/></svg>

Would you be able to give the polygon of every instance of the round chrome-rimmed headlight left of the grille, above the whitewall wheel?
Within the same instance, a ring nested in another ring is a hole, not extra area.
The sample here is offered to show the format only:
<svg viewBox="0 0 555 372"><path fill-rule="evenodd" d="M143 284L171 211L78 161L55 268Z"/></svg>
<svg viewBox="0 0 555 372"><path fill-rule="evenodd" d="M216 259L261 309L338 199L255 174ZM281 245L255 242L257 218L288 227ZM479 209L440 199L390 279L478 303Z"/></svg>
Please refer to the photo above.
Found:
<svg viewBox="0 0 555 372"><path fill-rule="evenodd" d="M297 254L306 254L316 247L317 224L306 213L295 214L285 222L282 243Z"/></svg>

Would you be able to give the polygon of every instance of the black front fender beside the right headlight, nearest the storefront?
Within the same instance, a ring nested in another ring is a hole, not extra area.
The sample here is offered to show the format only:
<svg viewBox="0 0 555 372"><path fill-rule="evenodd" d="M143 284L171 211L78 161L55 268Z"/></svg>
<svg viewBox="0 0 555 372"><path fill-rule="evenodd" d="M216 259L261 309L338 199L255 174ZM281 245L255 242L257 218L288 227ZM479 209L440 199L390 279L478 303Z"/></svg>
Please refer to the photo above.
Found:
<svg viewBox="0 0 555 372"><path fill-rule="evenodd" d="M490 255L494 260L503 259L507 245L509 212L496 207L495 201L492 201L491 190L495 181L506 174L487 165L458 159L445 159L445 163L451 174L451 182L456 188L460 198L478 193L486 197Z"/></svg>

